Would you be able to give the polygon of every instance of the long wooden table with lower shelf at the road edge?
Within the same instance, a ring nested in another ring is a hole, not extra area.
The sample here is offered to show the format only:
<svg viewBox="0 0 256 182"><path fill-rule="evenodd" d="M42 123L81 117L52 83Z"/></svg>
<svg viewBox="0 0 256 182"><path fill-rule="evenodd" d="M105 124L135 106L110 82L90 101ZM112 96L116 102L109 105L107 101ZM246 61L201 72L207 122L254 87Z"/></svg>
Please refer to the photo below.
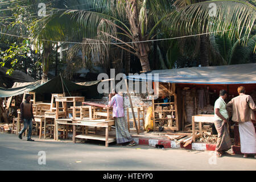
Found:
<svg viewBox="0 0 256 182"><path fill-rule="evenodd" d="M72 123L71 123L72 121ZM114 120L106 121L106 119L56 119L56 127L59 125L72 125L73 126L73 143L76 143L76 138L82 139L95 139L105 141L105 146L108 147L109 143L114 142L115 138L109 137L109 127L114 125ZM94 135L85 133L85 135L76 135L76 126L92 126L92 127L105 127L106 133L104 135ZM64 132L64 131L63 131ZM58 133L56 138L58 139Z"/></svg>

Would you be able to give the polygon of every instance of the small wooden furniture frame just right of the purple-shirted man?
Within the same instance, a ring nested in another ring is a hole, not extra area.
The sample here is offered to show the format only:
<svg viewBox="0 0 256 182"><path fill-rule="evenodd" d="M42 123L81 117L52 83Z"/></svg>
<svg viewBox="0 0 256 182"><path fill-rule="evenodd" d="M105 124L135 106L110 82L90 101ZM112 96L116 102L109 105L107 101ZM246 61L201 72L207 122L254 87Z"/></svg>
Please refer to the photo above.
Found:
<svg viewBox="0 0 256 182"><path fill-rule="evenodd" d="M136 121L138 121L138 131L139 133L141 133L141 121L143 123L143 131L144 131L144 128L145 128L145 111L146 111L146 108L145 106L141 106L141 107L133 107L134 108L134 113L137 113L137 116L138 118L135 118ZM130 132L130 121L133 121L133 127L135 127L135 123L134 123L134 119L133 118L130 118L130 115L129 113L131 113L131 108L127 108L127 123L128 123L128 130ZM142 117L141 117L142 115Z"/></svg>

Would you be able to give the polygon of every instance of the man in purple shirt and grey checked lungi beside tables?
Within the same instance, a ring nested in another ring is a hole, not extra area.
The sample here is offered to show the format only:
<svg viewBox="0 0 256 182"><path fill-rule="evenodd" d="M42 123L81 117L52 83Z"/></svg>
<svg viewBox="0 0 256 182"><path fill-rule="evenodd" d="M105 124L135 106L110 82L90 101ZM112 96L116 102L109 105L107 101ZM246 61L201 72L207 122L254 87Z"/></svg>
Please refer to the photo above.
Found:
<svg viewBox="0 0 256 182"><path fill-rule="evenodd" d="M113 107L117 144L130 142L129 146L135 146L136 142L131 138L127 122L125 122L125 115L123 114L123 97L118 93L109 94L109 106Z"/></svg>

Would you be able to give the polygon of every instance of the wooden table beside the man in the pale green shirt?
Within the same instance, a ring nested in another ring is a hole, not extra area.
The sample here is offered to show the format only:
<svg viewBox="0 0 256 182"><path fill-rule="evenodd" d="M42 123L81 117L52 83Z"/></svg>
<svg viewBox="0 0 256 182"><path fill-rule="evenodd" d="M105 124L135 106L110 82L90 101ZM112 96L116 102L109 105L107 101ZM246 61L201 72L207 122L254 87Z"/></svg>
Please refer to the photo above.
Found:
<svg viewBox="0 0 256 182"><path fill-rule="evenodd" d="M214 114L199 114L192 115L192 141L196 142L195 138L195 123L199 123L200 137L202 137L202 123L214 123Z"/></svg>

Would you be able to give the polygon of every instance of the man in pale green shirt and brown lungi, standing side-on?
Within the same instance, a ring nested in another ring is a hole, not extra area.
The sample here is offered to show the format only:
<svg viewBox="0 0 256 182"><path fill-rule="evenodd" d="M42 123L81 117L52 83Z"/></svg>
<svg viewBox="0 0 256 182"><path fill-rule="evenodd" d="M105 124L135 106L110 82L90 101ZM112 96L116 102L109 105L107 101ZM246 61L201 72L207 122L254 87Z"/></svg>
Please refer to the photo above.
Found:
<svg viewBox="0 0 256 182"><path fill-rule="evenodd" d="M231 148L231 140L228 133L228 111L226 110L226 102L228 97L226 90L220 90L220 97L214 104L214 126L218 133L217 145L215 152L217 156L221 157L225 151Z"/></svg>

